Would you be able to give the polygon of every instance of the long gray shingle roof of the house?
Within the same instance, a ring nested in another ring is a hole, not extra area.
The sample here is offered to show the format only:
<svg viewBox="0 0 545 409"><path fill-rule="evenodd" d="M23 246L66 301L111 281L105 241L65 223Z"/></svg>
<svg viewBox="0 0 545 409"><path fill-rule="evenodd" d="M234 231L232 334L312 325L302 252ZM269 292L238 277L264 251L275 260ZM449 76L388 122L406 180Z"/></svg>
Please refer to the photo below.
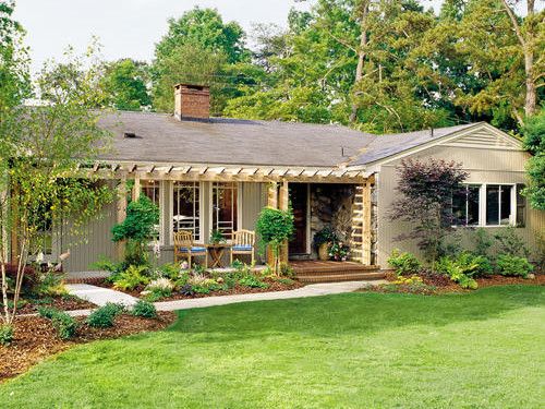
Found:
<svg viewBox="0 0 545 409"><path fill-rule="evenodd" d="M334 167L365 165L462 130L459 125L373 135L347 127L214 118L179 121L170 115L107 113L99 124L113 133L102 159L174 164ZM125 132L136 137L124 137ZM355 159L354 159L355 158Z"/></svg>

